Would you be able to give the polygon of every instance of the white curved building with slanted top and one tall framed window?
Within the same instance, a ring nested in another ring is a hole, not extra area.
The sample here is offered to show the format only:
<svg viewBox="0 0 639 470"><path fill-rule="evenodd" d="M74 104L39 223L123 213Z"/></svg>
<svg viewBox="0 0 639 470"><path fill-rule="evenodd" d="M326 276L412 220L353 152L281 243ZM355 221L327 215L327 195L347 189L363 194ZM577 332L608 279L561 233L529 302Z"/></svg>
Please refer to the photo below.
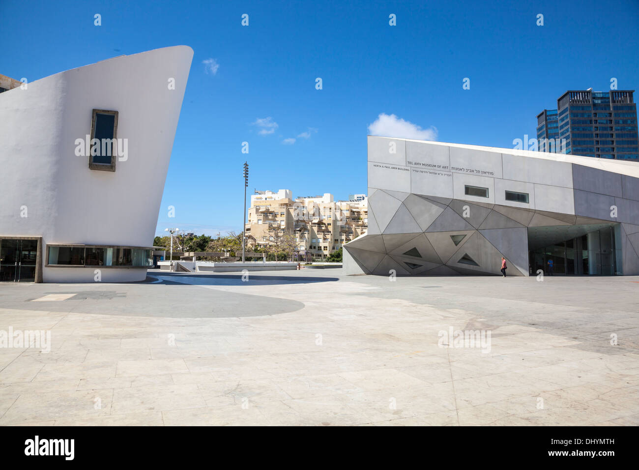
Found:
<svg viewBox="0 0 639 470"><path fill-rule="evenodd" d="M166 47L0 93L0 281L146 277L192 57Z"/></svg>

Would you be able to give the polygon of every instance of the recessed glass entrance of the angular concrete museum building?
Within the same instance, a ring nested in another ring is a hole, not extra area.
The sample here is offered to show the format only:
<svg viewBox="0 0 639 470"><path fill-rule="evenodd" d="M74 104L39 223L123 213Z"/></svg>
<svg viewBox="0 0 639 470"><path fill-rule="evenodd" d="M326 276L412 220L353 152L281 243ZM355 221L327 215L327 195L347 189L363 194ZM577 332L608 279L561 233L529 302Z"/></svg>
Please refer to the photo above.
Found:
<svg viewBox="0 0 639 470"><path fill-rule="evenodd" d="M545 275L614 276L621 270L612 224L530 227L528 249L531 276L540 270Z"/></svg>

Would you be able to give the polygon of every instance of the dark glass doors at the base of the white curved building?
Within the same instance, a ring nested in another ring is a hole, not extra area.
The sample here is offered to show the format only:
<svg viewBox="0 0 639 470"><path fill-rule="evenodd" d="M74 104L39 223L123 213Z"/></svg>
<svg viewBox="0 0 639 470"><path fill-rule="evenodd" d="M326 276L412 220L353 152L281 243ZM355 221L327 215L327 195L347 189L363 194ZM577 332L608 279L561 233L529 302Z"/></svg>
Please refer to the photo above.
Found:
<svg viewBox="0 0 639 470"><path fill-rule="evenodd" d="M0 238L0 281L35 282L38 239Z"/></svg>

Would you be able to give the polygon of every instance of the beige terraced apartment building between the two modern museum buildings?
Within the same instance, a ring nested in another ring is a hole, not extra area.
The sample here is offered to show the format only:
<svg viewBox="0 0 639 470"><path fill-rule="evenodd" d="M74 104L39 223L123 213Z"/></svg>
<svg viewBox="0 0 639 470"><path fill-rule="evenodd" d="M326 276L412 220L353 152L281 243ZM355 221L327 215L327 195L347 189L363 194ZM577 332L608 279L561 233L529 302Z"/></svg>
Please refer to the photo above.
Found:
<svg viewBox="0 0 639 470"><path fill-rule="evenodd" d="M250 197L245 231L248 246L266 247L287 234L300 259L321 260L366 232L368 207L365 194L335 201L330 193L293 199L288 189L256 191ZM289 244L290 245L290 244ZM292 251L288 249L282 251Z"/></svg>

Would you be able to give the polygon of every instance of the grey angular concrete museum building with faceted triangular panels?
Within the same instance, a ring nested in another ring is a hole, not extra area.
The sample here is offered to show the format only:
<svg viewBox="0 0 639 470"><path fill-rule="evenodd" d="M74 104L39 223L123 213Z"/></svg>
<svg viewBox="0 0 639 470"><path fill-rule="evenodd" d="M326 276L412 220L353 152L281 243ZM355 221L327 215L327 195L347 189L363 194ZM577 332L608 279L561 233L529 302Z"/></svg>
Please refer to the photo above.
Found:
<svg viewBox="0 0 639 470"><path fill-rule="evenodd" d="M597 255L609 274L639 274L630 162L369 136L368 191L368 231L344 245L348 274L500 274L504 256L510 276L528 276L529 250L597 230L611 233Z"/></svg>

